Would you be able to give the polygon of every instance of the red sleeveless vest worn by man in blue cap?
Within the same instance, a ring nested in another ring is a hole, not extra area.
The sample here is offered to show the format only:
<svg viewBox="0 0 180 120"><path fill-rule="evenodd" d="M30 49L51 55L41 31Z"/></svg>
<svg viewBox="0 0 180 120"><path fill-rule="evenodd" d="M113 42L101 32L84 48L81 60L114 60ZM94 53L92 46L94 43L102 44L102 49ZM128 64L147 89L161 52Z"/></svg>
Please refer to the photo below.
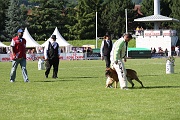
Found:
<svg viewBox="0 0 180 120"><path fill-rule="evenodd" d="M26 40L22 38L22 41L20 41L18 36L14 37L12 40L15 43L13 47L13 56L18 54L18 58L26 58Z"/></svg>

